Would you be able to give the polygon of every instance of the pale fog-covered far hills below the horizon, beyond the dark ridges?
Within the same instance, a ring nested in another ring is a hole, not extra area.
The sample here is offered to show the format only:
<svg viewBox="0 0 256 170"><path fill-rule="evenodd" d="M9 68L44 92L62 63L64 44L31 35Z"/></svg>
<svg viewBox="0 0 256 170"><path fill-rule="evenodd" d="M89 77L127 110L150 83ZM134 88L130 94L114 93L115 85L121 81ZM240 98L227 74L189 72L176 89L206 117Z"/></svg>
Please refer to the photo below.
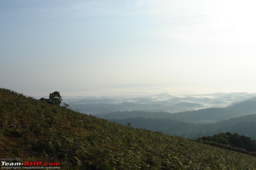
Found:
<svg viewBox="0 0 256 170"><path fill-rule="evenodd" d="M127 90L127 89L126 89ZM127 90L128 91L128 90ZM153 112L177 113L208 107L226 107L233 102L251 99L253 93L212 93L212 94L150 94L139 90L125 93L106 93L105 96L63 97L70 108L89 114L112 111L144 110Z"/></svg>

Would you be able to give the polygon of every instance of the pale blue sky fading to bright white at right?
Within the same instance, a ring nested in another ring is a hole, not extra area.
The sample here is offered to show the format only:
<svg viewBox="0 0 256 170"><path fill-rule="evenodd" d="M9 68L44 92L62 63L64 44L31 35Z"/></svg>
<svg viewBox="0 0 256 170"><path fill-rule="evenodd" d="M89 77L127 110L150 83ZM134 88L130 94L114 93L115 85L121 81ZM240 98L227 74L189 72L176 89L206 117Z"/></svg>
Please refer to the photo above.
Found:
<svg viewBox="0 0 256 170"><path fill-rule="evenodd" d="M133 84L255 93L255 5L0 0L0 87L28 95Z"/></svg>

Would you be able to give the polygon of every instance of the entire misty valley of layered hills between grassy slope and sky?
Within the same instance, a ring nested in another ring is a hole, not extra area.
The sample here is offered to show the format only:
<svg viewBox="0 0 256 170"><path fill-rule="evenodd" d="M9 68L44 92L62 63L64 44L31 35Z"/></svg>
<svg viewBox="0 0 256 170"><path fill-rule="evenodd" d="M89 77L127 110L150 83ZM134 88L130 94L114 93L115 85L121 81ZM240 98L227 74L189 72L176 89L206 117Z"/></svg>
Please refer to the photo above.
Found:
<svg viewBox="0 0 256 170"><path fill-rule="evenodd" d="M63 103L68 103L72 110L110 122L131 123L134 128L168 135L198 138L239 131L256 139L256 133L248 130L256 126L255 116L249 117L256 115L255 93L193 94L168 92L167 89L150 84L108 86L99 90L103 96L63 96ZM108 90L121 92L108 93ZM245 122L248 122L246 128Z"/></svg>

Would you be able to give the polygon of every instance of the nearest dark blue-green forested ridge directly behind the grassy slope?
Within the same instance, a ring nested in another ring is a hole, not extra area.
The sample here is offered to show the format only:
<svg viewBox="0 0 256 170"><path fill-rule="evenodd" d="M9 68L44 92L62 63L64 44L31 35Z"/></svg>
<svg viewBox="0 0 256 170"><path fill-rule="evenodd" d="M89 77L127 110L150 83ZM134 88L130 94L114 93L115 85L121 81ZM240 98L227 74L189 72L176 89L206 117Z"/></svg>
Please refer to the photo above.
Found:
<svg viewBox="0 0 256 170"><path fill-rule="evenodd" d="M133 111L133 113L135 112L136 111ZM126 113L129 114L130 112ZM147 112L143 113L146 114ZM152 112L149 112L148 114L151 115ZM156 113L156 115L157 114L161 113ZM197 139L198 137L203 136L212 136L221 132L238 133L240 135L246 135L252 137L252 139L256 139L256 114L230 118L228 120L218 121L214 123L192 123L181 122L169 118L159 119L145 117L111 119L111 117L108 116L108 120L123 125L126 125L127 122L130 122L131 126L134 128L145 128L153 131L160 131L167 135L176 135L192 139Z"/></svg>

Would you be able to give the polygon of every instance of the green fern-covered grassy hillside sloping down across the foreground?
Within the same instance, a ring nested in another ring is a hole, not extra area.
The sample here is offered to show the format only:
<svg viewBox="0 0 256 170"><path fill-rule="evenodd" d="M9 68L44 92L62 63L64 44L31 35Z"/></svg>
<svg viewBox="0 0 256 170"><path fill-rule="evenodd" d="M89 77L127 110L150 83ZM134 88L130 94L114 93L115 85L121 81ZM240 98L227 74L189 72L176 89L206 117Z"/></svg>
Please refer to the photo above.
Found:
<svg viewBox="0 0 256 170"><path fill-rule="evenodd" d="M256 169L256 158L0 89L0 157L61 169Z"/></svg>

